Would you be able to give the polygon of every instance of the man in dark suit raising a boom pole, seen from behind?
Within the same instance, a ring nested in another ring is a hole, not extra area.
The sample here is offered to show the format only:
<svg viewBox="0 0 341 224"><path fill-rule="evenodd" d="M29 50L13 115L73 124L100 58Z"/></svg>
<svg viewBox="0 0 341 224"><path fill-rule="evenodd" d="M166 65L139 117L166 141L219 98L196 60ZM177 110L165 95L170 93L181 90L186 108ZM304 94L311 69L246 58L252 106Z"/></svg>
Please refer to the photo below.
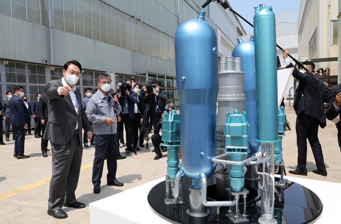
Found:
<svg viewBox="0 0 341 224"><path fill-rule="evenodd" d="M296 90L294 100L294 109L297 114L296 118L296 135L298 158L297 168L290 170L289 173L296 175L307 175L306 158L307 158L307 141L308 138L311 149L314 154L317 170L314 173L327 176L324 166L321 144L318 138L319 125L321 128L326 126L323 102L328 102L328 87L316 75L312 74L315 64L312 62L304 62L303 66L308 69L299 71L290 62L288 51L283 50L284 63L287 68L294 68L292 76L300 81Z"/></svg>

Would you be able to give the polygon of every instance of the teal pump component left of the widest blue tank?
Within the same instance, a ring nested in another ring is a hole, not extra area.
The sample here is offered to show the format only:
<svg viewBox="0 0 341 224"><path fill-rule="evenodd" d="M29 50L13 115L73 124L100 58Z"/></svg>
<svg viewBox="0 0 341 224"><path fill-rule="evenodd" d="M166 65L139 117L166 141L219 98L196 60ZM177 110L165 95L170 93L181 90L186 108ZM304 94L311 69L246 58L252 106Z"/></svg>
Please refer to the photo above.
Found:
<svg viewBox="0 0 341 224"><path fill-rule="evenodd" d="M179 170L180 151L180 113L172 110L170 113L163 113L161 146L167 147L167 175L173 180Z"/></svg>

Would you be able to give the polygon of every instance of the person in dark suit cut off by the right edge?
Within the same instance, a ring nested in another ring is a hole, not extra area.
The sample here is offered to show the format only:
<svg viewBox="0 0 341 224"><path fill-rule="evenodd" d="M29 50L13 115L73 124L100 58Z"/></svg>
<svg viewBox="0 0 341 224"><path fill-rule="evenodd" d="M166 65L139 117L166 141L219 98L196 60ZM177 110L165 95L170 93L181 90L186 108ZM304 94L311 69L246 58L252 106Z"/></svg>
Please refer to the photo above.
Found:
<svg viewBox="0 0 341 224"><path fill-rule="evenodd" d="M328 120L334 120L340 114L341 107L341 84L330 89L328 107L325 110L325 116ZM338 142L341 149L341 122L336 123L338 129Z"/></svg>

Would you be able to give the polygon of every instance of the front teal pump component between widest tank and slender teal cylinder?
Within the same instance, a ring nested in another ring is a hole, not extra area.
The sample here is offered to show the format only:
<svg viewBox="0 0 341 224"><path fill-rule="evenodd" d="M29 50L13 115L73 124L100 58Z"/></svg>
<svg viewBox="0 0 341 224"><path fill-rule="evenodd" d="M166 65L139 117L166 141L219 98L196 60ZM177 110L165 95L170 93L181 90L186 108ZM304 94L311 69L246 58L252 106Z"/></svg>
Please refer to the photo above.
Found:
<svg viewBox="0 0 341 224"><path fill-rule="evenodd" d="M229 153L231 161L243 161L249 152L248 135L249 124L246 120L246 112L234 114L227 112L224 127L225 152ZM230 186L233 191L241 191L244 187L244 165L230 165Z"/></svg>

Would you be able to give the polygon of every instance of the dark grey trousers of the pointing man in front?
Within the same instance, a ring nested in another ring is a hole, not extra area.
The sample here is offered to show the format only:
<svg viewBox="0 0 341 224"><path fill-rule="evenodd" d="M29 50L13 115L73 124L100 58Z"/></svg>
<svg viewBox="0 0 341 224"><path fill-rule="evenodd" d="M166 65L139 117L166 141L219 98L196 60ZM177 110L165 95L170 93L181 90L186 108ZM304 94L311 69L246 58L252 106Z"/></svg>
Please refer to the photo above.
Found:
<svg viewBox="0 0 341 224"><path fill-rule="evenodd" d="M63 207L63 203L72 204L76 201L75 191L78 185L83 147L75 133L70 142L58 145L51 142L52 178L50 182L49 210Z"/></svg>

